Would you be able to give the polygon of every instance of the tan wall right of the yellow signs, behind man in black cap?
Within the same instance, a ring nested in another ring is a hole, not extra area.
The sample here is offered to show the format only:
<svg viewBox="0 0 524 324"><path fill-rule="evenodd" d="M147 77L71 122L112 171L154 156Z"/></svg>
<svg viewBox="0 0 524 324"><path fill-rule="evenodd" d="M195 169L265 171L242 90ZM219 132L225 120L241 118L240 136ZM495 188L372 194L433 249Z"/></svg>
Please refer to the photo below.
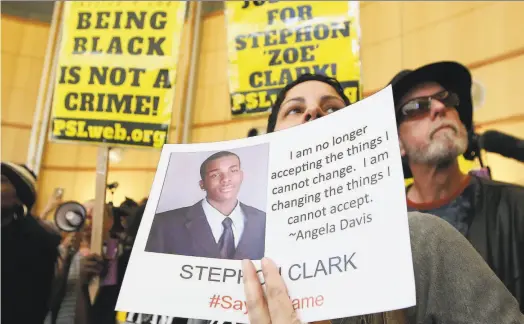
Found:
<svg viewBox="0 0 524 324"><path fill-rule="evenodd" d="M475 111L479 132L524 138L523 2L366 2L361 6L364 90L384 86L401 69L438 60L470 67L486 88ZM524 185L524 164L495 154L496 179Z"/></svg>

